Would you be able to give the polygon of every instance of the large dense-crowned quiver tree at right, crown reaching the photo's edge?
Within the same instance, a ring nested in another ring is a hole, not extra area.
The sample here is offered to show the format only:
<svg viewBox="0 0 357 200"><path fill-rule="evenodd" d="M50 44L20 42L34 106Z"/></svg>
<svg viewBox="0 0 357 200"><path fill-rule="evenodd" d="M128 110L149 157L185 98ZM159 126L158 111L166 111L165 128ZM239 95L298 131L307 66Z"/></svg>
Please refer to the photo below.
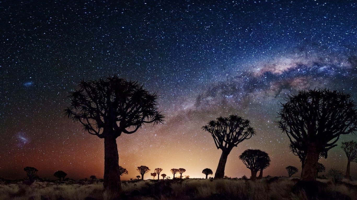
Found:
<svg viewBox="0 0 357 200"><path fill-rule="evenodd" d="M309 89L289 95L278 112L279 128L286 133L296 148L303 148L301 180L316 181L317 161L342 134L357 130L356 103L351 94L329 89ZM299 146L301 144L301 146Z"/></svg>

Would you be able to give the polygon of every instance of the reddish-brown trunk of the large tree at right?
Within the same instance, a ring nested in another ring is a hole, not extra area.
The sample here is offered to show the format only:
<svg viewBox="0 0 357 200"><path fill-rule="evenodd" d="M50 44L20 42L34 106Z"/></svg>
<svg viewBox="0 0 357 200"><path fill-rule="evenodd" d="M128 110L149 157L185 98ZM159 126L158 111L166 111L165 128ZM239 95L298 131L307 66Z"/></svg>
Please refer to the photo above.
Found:
<svg viewBox="0 0 357 200"><path fill-rule="evenodd" d="M318 158L319 153L317 152L316 144L312 143L308 145L304 168L302 169L300 180L316 181Z"/></svg>

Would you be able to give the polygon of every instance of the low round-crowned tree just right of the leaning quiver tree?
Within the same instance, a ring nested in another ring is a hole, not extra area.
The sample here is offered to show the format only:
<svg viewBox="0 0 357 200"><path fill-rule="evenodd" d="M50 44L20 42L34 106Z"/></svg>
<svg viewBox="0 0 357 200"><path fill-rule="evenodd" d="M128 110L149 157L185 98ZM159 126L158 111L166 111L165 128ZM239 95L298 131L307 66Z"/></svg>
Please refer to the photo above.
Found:
<svg viewBox="0 0 357 200"><path fill-rule="evenodd" d="M267 158L269 158L268 154L259 149L247 149L239 156L239 159L250 169L251 180L257 178L257 172L261 170L262 163L266 162Z"/></svg>

